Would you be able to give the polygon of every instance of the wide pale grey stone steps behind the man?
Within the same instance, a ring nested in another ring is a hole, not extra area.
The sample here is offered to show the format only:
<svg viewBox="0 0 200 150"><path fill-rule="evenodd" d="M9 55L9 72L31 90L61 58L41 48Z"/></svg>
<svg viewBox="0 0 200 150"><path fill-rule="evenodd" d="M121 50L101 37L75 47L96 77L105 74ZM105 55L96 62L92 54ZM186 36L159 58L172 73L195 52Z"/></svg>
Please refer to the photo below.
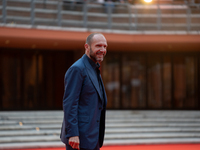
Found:
<svg viewBox="0 0 200 150"><path fill-rule="evenodd" d="M0 149L63 147L62 111L0 112ZM104 145L200 143L200 111L107 111Z"/></svg>

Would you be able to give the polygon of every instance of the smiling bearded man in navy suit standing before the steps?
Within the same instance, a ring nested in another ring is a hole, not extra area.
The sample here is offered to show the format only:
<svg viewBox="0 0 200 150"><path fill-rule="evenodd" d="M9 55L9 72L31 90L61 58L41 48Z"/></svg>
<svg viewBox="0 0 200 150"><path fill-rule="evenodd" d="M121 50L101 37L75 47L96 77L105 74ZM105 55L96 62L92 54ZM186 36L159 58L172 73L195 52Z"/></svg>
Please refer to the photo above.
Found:
<svg viewBox="0 0 200 150"><path fill-rule="evenodd" d="M99 63L106 49L102 34L90 34L85 54L65 74L61 140L66 150L99 150L103 145L107 98Z"/></svg>

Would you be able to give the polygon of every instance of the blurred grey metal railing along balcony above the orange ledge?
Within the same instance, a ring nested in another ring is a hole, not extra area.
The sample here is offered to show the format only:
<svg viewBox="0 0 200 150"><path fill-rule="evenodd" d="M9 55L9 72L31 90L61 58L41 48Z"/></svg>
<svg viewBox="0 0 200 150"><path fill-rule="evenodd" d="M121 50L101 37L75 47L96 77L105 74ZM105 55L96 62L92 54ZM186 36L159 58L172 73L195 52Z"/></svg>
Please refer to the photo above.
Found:
<svg viewBox="0 0 200 150"><path fill-rule="evenodd" d="M200 4L160 0L152 4L72 0L2 0L3 24L117 30L200 31Z"/></svg>

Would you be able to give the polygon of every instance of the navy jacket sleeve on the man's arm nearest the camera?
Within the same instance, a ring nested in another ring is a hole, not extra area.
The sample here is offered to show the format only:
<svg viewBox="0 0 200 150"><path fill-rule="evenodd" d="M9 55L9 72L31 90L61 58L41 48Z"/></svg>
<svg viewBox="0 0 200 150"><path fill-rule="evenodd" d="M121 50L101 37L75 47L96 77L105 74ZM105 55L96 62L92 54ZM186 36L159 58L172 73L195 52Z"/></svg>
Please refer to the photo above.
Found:
<svg viewBox="0 0 200 150"><path fill-rule="evenodd" d="M78 67L71 67L65 74L65 91L63 97L63 110L66 137L79 136L78 130L78 104L81 93L83 77Z"/></svg>

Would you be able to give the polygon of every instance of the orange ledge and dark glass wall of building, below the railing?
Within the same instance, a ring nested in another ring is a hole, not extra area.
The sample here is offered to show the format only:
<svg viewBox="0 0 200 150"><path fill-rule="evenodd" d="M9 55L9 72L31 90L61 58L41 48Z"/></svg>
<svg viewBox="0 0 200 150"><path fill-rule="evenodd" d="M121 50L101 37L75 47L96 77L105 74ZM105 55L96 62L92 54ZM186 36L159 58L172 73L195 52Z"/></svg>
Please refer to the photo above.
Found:
<svg viewBox="0 0 200 150"><path fill-rule="evenodd" d="M1 110L62 109L64 74L90 32L0 31ZM200 109L199 35L103 34L108 109Z"/></svg>

